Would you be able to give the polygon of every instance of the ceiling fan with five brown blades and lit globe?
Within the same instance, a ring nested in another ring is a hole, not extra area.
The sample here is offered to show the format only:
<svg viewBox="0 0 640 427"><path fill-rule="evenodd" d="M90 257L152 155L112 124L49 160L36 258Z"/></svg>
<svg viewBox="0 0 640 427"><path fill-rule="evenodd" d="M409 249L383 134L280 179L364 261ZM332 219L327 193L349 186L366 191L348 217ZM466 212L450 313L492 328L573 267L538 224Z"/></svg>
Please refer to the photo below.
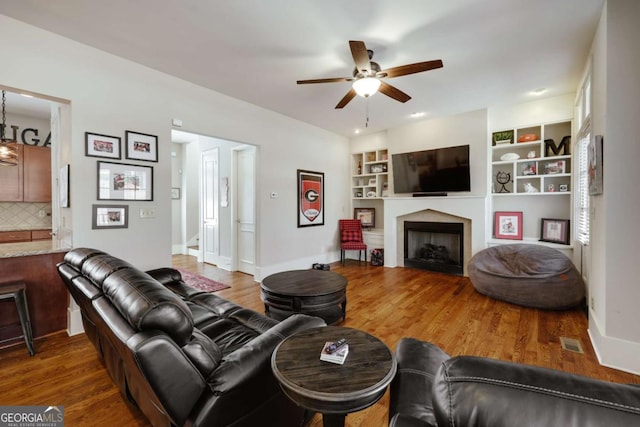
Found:
<svg viewBox="0 0 640 427"><path fill-rule="evenodd" d="M400 65L398 67L380 69L378 63L371 61L373 51L368 50L362 41L349 41L351 48L351 56L356 66L353 70L353 77L333 77L328 79L312 79L298 80L298 84L311 83L337 83L337 82L353 82L349 92L338 102L336 108L344 108L356 95L365 98L373 95L378 90L390 98L400 102L407 102L411 99L409 95L400 89L391 86L389 83L381 80L384 78L406 76L408 74L421 73L423 71L442 68L442 60L416 62L415 64Z"/></svg>

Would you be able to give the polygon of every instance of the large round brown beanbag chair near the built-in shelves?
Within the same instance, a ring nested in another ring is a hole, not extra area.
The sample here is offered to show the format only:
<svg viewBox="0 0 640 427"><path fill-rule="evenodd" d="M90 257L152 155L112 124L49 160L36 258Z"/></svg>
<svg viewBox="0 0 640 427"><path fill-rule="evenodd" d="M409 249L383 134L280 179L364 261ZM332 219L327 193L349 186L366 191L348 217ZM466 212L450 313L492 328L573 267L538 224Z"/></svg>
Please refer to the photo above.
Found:
<svg viewBox="0 0 640 427"><path fill-rule="evenodd" d="M585 297L582 276L562 252L542 245L493 246L469 261L469 278L481 294L527 307L561 310Z"/></svg>

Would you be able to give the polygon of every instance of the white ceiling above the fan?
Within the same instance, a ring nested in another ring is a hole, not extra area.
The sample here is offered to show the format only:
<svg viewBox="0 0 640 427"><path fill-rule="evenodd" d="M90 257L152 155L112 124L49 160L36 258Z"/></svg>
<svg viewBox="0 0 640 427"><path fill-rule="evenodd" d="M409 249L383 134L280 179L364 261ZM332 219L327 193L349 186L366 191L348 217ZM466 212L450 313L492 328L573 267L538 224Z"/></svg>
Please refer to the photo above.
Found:
<svg viewBox="0 0 640 427"><path fill-rule="evenodd" d="M0 13L345 135L574 92L604 0L2 0ZM413 97L356 97L349 40L385 68L442 59L388 79ZM2 82L0 82L2 84ZM28 89L28 88L25 88ZM368 105L367 105L368 104ZM364 129L369 116L369 126ZM188 118L183 119L187 120Z"/></svg>

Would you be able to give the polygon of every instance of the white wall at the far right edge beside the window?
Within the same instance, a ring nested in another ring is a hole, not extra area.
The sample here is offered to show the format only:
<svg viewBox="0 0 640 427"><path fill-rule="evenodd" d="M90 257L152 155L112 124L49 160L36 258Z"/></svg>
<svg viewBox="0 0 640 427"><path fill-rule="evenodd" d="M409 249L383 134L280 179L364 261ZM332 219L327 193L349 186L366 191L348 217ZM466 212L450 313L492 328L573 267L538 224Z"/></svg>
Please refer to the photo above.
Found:
<svg viewBox="0 0 640 427"><path fill-rule="evenodd" d="M640 374L640 2L608 0L592 46L594 135L603 194L591 197L589 333L600 361ZM606 67L604 66L606 64Z"/></svg>

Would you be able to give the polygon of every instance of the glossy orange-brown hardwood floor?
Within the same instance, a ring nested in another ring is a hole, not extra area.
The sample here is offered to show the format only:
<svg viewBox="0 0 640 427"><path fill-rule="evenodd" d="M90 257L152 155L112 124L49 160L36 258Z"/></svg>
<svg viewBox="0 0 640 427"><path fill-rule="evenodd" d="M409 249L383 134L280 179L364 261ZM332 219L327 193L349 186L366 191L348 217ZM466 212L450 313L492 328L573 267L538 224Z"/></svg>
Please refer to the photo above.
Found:
<svg viewBox="0 0 640 427"><path fill-rule="evenodd" d="M194 257L174 256L174 266L231 285L217 292L263 312L258 283ZM405 268L372 267L348 261L331 270L347 277L347 319L343 326L365 330L395 349L402 337L431 341L451 355L473 354L560 369L593 378L640 384L640 376L598 364L580 309L542 311L478 294L468 278ZM580 341L584 354L563 350L560 337ZM84 335L58 333L0 350L0 405L63 405L69 426L147 426L128 405ZM347 425L386 426L388 393L371 408L349 414ZM310 427L320 427L319 415Z"/></svg>

